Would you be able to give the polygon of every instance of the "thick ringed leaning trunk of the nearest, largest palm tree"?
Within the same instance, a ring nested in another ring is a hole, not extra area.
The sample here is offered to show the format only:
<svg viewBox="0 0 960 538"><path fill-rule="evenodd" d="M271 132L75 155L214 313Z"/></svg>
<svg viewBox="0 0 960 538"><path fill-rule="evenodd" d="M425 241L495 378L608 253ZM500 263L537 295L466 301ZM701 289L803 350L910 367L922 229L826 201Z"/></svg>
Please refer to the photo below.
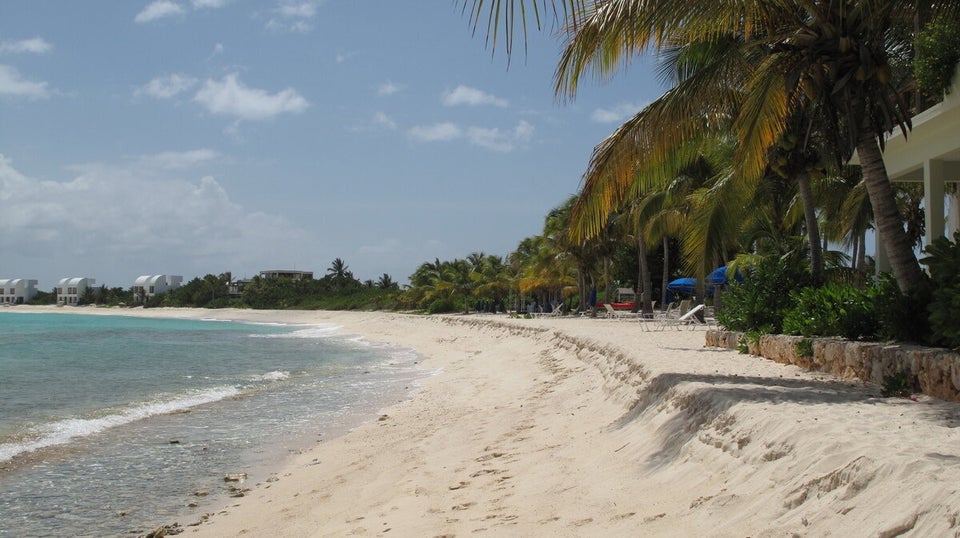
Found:
<svg viewBox="0 0 960 538"><path fill-rule="evenodd" d="M880 234L880 242L887 252L893 277L901 293L909 293L923 283L923 271L913 252L913 246L903 229L903 220L897 210L893 186L883 164L880 146L873 136L865 134L857 143L857 156L863 170L863 182L867 187L873 220Z"/></svg>

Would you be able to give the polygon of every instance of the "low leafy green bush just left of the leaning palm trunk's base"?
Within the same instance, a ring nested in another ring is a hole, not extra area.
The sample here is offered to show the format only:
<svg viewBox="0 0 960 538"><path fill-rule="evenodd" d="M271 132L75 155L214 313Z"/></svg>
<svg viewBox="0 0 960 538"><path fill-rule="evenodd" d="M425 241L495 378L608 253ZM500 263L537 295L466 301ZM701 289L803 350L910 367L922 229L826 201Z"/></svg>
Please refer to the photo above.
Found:
<svg viewBox="0 0 960 538"><path fill-rule="evenodd" d="M875 339L880 332L876 288L828 283L794 292L796 306L783 320L783 332L801 336Z"/></svg>

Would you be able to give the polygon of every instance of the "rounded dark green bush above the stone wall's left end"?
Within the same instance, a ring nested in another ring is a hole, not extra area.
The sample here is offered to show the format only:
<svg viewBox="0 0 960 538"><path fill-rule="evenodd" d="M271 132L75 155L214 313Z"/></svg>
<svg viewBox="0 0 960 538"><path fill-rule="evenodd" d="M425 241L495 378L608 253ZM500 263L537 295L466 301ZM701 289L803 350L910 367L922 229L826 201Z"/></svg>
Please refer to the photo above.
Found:
<svg viewBox="0 0 960 538"><path fill-rule="evenodd" d="M809 286L810 272L803 262L764 258L744 271L743 282L735 282L723 295L717 321L731 331L778 333L783 318L794 306L788 290Z"/></svg>

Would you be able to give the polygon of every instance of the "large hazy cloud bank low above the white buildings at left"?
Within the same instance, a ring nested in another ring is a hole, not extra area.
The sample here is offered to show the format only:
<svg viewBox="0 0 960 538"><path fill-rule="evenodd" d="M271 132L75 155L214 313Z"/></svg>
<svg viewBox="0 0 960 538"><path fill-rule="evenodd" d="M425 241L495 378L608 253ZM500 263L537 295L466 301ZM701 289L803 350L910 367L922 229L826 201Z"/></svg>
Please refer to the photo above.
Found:
<svg viewBox="0 0 960 538"><path fill-rule="evenodd" d="M166 271L178 263L203 274L295 253L308 240L303 230L237 204L216 178L191 173L192 164L215 157L204 149L161 153L78 166L74 177L50 181L24 175L0 155L0 200L16 198L0 215L0 251L63 274L83 260L104 271L125 263Z"/></svg>

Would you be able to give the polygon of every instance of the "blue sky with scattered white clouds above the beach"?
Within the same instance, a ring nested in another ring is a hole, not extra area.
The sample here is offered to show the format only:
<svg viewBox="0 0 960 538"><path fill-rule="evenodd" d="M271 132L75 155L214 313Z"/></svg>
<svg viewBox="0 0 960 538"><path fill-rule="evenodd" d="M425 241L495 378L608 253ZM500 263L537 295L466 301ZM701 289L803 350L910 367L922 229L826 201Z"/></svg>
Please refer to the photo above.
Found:
<svg viewBox="0 0 960 538"><path fill-rule="evenodd" d="M549 28L508 67L451 0L0 9L0 277L45 290L506 255L662 92L638 59L558 101Z"/></svg>

